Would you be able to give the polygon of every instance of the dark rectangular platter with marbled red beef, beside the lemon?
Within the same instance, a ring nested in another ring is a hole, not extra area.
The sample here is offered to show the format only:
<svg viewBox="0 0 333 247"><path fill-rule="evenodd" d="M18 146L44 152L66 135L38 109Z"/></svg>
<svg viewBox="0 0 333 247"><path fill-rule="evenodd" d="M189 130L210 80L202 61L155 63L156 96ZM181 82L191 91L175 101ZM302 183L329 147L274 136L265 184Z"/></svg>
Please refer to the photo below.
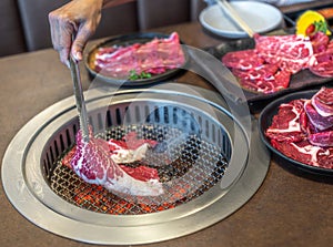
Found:
<svg viewBox="0 0 333 247"><path fill-rule="evenodd" d="M281 30L223 42L208 52L230 69L249 103L333 80L333 41L323 33L310 40Z"/></svg>

